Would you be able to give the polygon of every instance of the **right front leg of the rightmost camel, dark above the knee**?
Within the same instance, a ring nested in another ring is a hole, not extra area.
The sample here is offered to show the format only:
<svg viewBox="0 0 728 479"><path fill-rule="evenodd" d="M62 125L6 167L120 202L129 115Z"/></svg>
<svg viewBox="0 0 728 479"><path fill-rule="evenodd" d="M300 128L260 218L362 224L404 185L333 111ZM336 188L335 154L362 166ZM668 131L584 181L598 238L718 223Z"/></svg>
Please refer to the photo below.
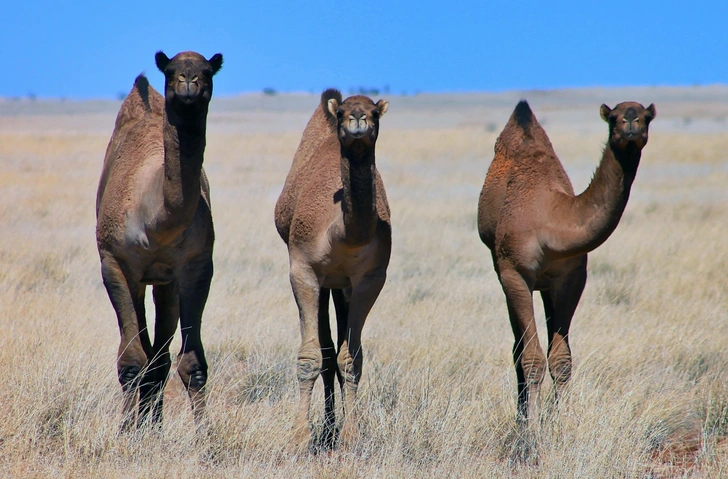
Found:
<svg viewBox="0 0 728 479"><path fill-rule="evenodd" d="M551 288L541 292L548 328L549 373L557 401L571 379L569 328L586 285L586 255L574 262L576 265L571 271L554 279Z"/></svg>

